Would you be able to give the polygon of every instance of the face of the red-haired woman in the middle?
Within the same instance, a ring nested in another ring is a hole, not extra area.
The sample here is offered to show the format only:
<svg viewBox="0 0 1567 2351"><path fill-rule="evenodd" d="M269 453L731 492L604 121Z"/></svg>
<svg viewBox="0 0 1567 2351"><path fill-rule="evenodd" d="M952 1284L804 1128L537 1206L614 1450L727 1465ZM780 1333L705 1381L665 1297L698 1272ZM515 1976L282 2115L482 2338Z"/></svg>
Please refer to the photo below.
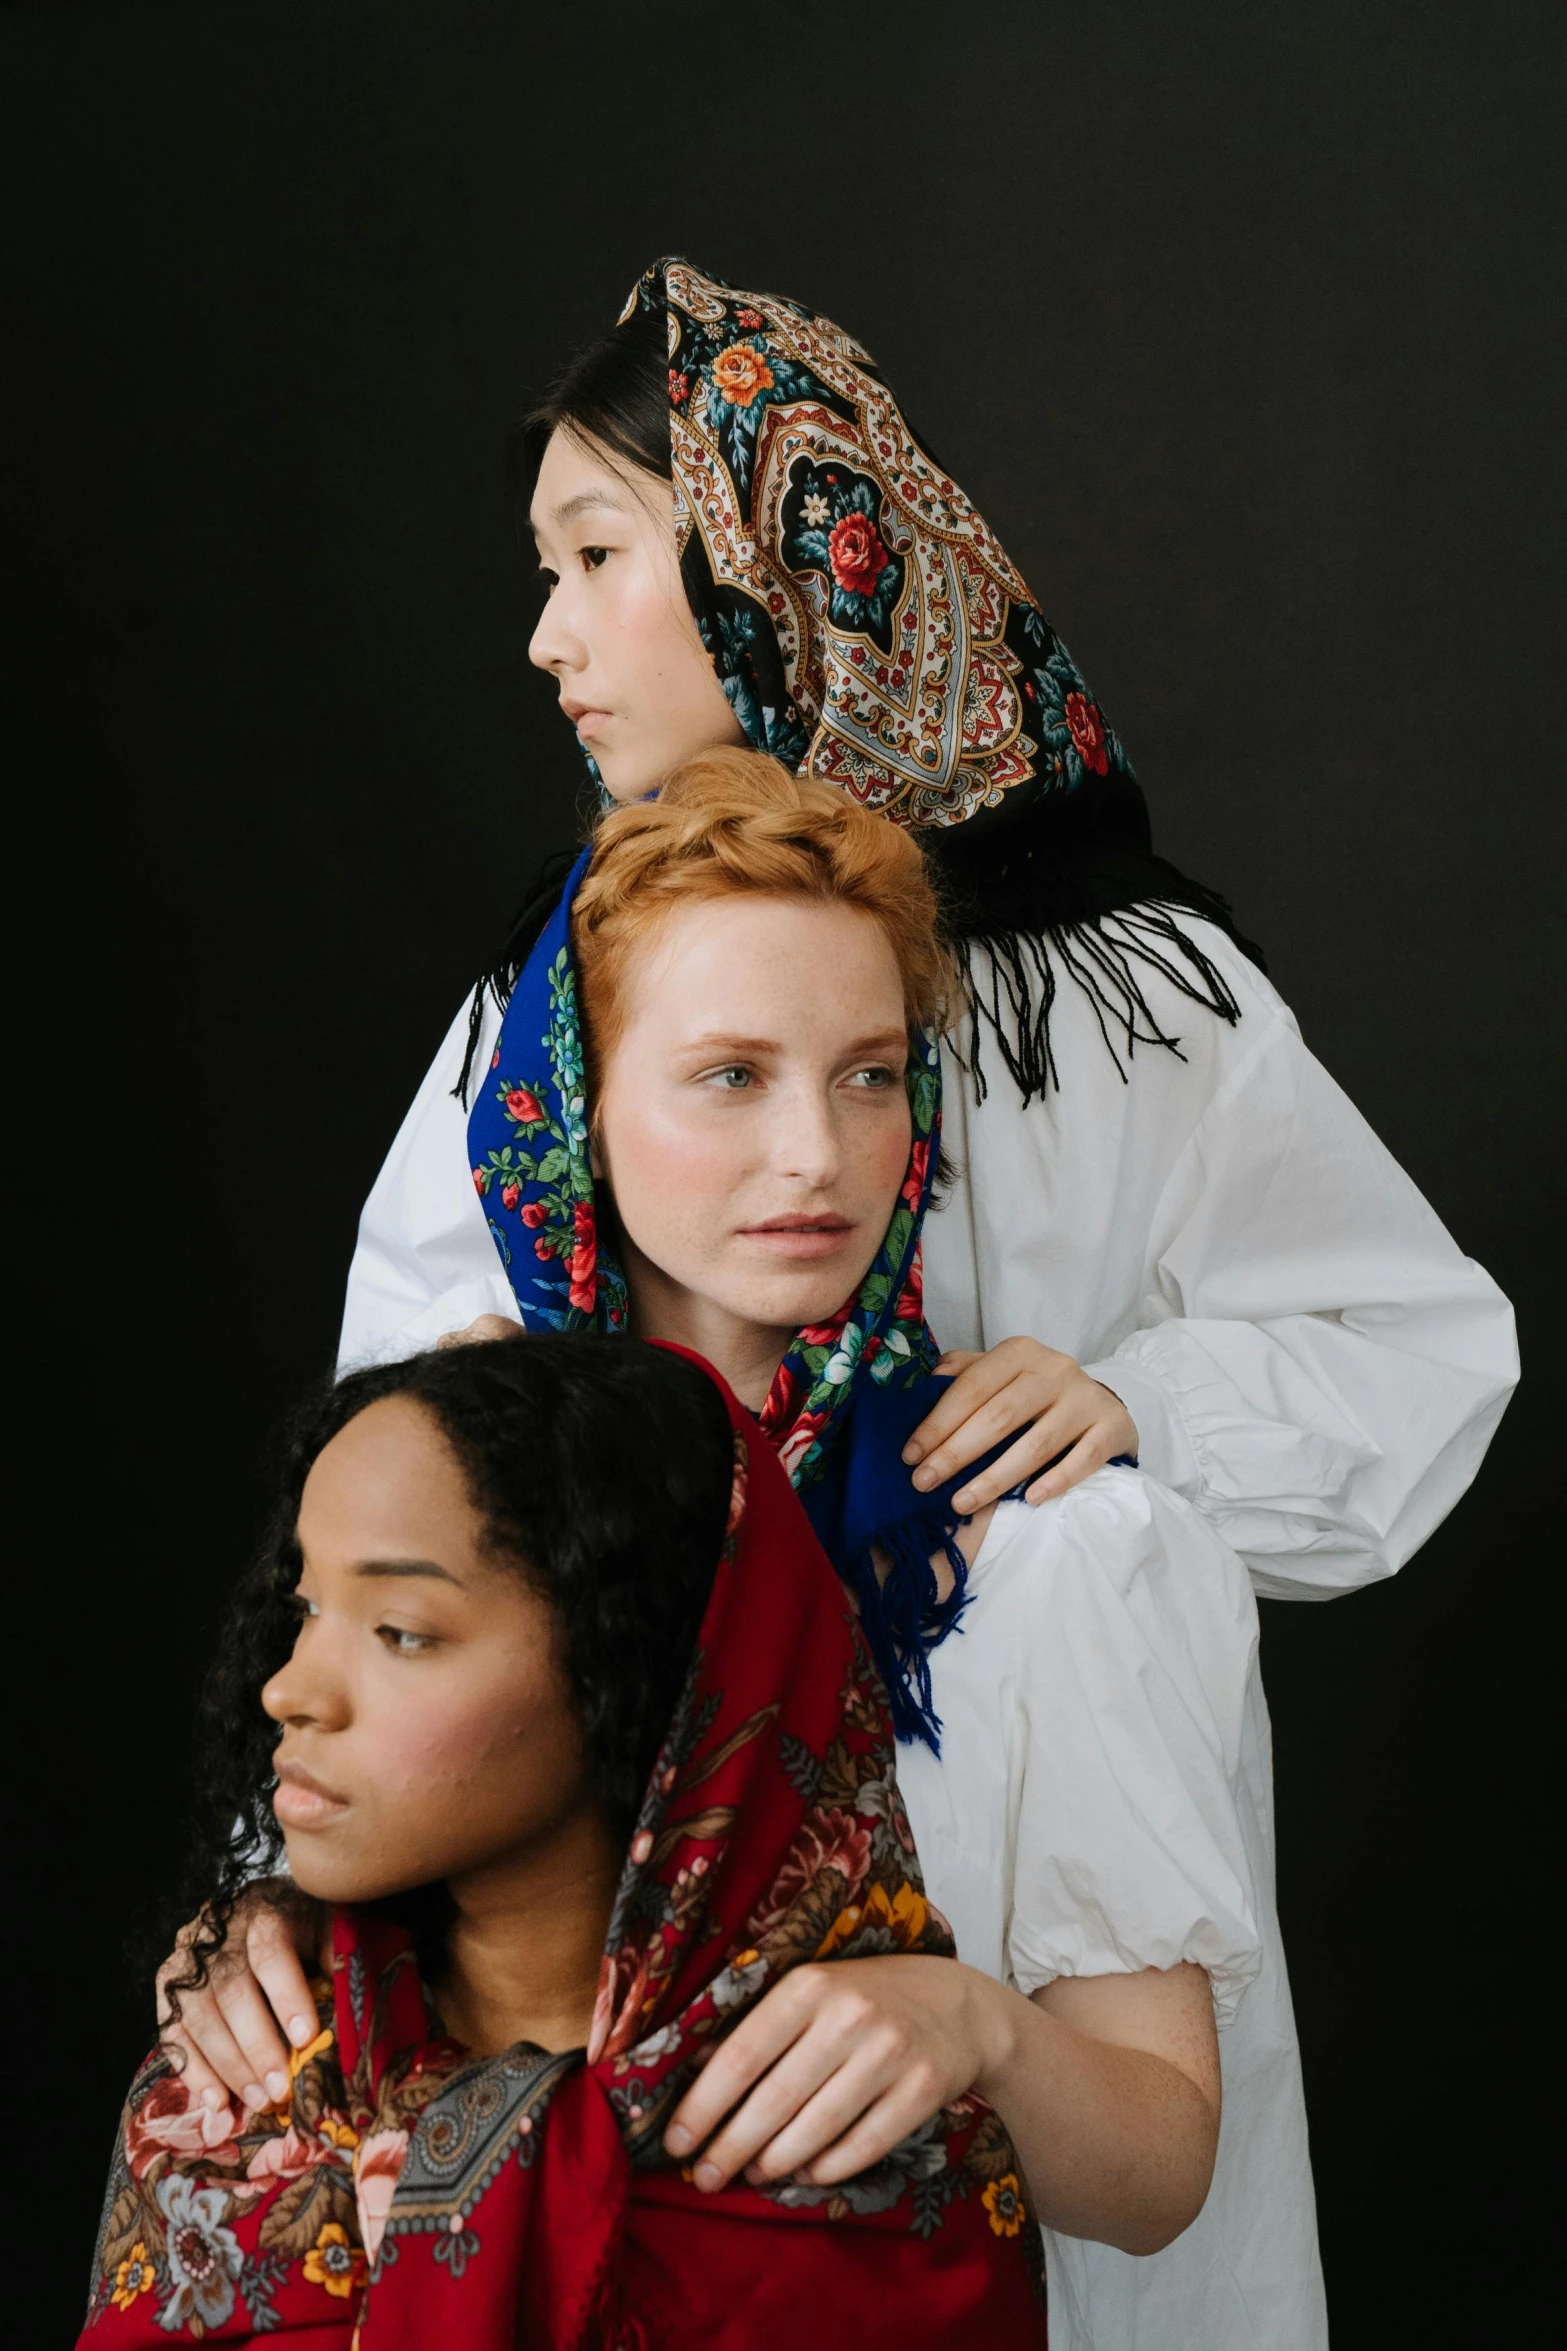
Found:
<svg viewBox="0 0 1567 2351"><path fill-rule="evenodd" d="M909 1161L881 924L808 898L684 905L623 987L594 1136L634 1302L684 1291L787 1335L825 1321L881 1248Z"/></svg>

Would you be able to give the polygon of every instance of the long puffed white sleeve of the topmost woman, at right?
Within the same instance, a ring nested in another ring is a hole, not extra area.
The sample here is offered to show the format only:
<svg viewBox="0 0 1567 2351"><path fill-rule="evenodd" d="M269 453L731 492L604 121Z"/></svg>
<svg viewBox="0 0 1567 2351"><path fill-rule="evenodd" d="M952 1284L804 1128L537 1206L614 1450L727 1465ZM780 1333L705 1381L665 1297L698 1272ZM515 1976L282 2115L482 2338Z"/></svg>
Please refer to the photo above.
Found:
<svg viewBox="0 0 1567 2351"><path fill-rule="evenodd" d="M1175 1312L1088 1366L1144 1465L1266 1599L1400 1568L1480 1467L1513 1314L1283 1006L1179 1152L1149 1260Z"/></svg>

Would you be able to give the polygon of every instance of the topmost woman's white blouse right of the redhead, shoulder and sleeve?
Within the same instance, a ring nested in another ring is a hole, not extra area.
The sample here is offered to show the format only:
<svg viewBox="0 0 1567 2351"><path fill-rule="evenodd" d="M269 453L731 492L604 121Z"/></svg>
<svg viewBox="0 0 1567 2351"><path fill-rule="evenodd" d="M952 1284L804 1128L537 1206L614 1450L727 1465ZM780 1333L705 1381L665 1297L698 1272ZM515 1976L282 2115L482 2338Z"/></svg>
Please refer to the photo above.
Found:
<svg viewBox="0 0 1567 2351"><path fill-rule="evenodd" d="M1257 966L1189 929L1240 1020L1149 973L1184 1058L1139 1046L1123 1081L1071 980L1043 1100L994 1039L984 1100L944 1056L963 1176L926 1223L926 1307L944 1347L1076 1357L1264 1599L1330 1599L1393 1575L1473 1479L1518 1380L1513 1314Z"/></svg>

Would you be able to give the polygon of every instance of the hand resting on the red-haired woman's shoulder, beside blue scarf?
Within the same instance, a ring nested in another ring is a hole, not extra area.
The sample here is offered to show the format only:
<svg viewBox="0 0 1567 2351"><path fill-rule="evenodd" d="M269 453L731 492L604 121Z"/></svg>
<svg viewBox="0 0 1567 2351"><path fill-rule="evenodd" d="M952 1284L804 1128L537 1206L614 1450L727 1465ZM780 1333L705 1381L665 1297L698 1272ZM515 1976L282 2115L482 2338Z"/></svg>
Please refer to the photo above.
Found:
<svg viewBox="0 0 1567 2351"><path fill-rule="evenodd" d="M1036 1338L1003 1338L984 1354L944 1354L935 1368L951 1373L951 1387L902 1455L909 1465L919 1462L919 1488L944 1486L1003 1436L1017 1436L989 1469L959 1488L954 1502L966 1514L998 1502L1045 1462L1055 1469L1034 1476L1029 1502L1050 1502L1116 1455L1137 1451L1137 1422L1121 1396Z"/></svg>

